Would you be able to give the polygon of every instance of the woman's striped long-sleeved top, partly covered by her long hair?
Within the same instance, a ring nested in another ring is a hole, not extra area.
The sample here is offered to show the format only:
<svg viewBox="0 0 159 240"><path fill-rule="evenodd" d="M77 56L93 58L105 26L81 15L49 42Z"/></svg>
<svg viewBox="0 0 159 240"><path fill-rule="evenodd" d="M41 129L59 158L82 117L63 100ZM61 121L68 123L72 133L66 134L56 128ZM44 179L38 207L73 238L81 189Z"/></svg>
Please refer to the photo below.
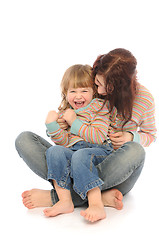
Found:
<svg viewBox="0 0 159 240"><path fill-rule="evenodd" d="M107 107L109 108L108 102ZM110 120L109 131L111 133L122 130L123 120L115 107L111 112ZM154 99L152 94L141 84L139 84L134 101L132 119L124 125L123 130L131 132L134 135L133 141L140 143L143 147L149 146L156 139Z"/></svg>

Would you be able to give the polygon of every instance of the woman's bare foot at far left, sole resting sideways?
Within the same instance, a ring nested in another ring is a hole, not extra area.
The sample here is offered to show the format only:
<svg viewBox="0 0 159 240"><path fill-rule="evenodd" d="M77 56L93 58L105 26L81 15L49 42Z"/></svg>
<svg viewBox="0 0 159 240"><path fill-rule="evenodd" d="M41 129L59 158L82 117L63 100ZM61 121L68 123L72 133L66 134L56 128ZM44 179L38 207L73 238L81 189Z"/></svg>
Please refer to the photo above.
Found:
<svg viewBox="0 0 159 240"><path fill-rule="evenodd" d="M51 207L50 190L32 189L22 193L23 204L28 209L36 207Z"/></svg>

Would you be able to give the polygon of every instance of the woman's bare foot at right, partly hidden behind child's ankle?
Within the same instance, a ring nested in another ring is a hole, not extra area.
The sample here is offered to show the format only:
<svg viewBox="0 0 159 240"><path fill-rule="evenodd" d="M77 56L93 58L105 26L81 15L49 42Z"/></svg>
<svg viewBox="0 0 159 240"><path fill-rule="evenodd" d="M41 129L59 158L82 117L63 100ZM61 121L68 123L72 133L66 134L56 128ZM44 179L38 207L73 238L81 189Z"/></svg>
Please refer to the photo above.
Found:
<svg viewBox="0 0 159 240"><path fill-rule="evenodd" d="M123 208L123 195L117 189L111 189L102 192L102 202L105 207L114 207L118 210Z"/></svg>

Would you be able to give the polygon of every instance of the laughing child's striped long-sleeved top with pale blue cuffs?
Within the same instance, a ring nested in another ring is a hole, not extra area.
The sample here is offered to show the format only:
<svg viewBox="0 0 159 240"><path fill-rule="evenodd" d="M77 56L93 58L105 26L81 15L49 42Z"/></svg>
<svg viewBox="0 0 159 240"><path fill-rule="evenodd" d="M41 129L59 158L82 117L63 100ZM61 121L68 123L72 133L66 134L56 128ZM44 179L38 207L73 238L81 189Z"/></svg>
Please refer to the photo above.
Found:
<svg viewBox="0 0 159 240"><path fill-rule="evenodd" d="M86 107L74 111L77 118L67 130L60 128L56 121L46 124L48 135L55 144L70 147L83 140L97 144L107 140L109 111L106 105L103 106L102 99L95 98Z"/></svg>

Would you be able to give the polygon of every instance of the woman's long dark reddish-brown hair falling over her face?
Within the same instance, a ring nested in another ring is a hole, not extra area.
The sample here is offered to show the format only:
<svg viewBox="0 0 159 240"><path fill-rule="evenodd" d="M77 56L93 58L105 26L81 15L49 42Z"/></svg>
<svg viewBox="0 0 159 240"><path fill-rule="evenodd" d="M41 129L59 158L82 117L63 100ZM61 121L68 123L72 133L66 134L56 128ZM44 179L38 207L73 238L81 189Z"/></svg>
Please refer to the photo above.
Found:
<svg viewBox="0 0 159 240"><path fill-rule="evenodd" d="M137 93L137 60L126 49L118 48L100 55L93 64L93 76L102 75L110 112L116 107L124 119L123 126L131 120L134 99Z"/></svg>

